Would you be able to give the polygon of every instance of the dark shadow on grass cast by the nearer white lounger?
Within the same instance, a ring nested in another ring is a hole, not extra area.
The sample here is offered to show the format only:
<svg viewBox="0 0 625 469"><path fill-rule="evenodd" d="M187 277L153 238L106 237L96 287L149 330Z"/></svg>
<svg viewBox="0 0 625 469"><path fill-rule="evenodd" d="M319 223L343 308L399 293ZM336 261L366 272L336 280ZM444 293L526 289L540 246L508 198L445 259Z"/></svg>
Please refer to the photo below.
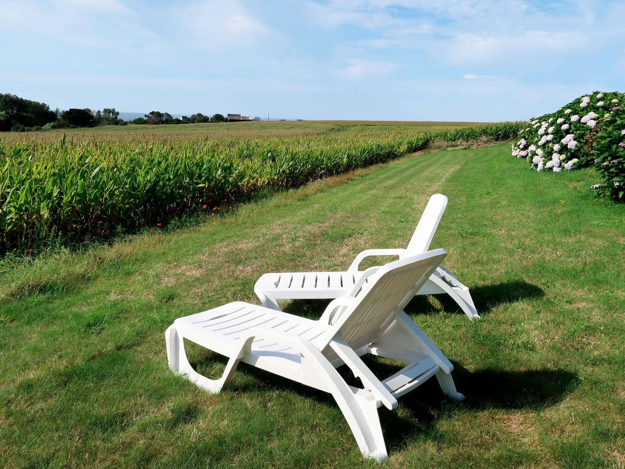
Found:
<svg viewBox="0 0 625 469"><path fill-rule="evenodd" d="M206 349L201 353L201 357L197 358L200 367L209 366L212 373L217 375L221 373L227 361L225 357ZM362 356L362 360L374 375L381 379L391 376L402 366L399 362L391 363L390 360L371 355ZM191 364L197 368L197 361L191 361ZM453 365L452 375L456 388L466 396L461 403L446 398L436 378L432 377L399 398L399 409L389 411L383 406L378 409L389 453L401 451L417 441L441 441L441 438L444 440L444 435L437 425L442 418L452 419L461 414L488 409L543 410L564 400L581 383L577 375L562 369L508 371L482 368L471 372L459 363L454 362ZM239 365L237 370L237 378L226 386L224 391L236 393L280 391L336 407L334 398L329 393L246 364ZM337 370L347 384L362 387L360 380L352 375L347 366L341 366Z"/></svg>

